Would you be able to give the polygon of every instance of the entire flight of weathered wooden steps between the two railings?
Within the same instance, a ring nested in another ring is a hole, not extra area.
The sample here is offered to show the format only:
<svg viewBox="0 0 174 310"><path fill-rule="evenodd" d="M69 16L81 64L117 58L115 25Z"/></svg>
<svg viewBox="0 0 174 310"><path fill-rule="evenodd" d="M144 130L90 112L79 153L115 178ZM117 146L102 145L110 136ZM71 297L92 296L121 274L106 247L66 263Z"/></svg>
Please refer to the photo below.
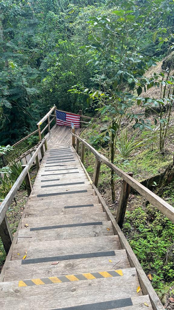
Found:
<svg viewBox="0 0 174 310"><path fill-rule="evenodd" d="M0 282L0 309L152 310L139 286L74 149L48 144Z"/></svg>

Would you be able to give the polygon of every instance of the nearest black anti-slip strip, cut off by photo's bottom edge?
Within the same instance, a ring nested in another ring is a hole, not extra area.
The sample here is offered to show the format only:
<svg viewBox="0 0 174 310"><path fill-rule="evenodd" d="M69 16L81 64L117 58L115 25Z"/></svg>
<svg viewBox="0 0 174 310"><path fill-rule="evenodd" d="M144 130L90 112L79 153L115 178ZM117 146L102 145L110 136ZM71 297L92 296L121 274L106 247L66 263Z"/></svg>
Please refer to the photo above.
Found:
<svg viewBox="0 0 174 310"><path fill-rule="evenodd" d="M66 308L56 308L52 310L109 310L116 308L124 308L128 306L133 306L131 298L122 298L109 301L101 301L99 303L88 303L80 306L66 307Z"/></svg>

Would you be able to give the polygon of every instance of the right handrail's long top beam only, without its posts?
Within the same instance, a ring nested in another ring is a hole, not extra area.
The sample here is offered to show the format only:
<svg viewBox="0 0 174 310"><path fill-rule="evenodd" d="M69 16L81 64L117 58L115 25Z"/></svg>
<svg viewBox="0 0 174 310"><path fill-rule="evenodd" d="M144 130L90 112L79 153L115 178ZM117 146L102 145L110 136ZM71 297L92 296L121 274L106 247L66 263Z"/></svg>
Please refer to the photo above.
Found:
<svg viewBox="0 0 174 310"><path fill-rule="evenodd" d="M174 208L169 205L162 198L151 192L144 185L139 183L137 180L132 178L123 170L119 169L117 166L112 164L105 156L98 153L90 144L88 144L85 140L81 139L79 136L72 133L72 135L82 142L82 145L87 147L98 159L99 162L106 164L112 170L115 171L117 175L120 176L126 183L128 183L132 188L134 188L138 193L140 193L143 197L146 198L152 205L154 205L158 210L160 210L168 219L170 219L174 223Z"/></svg>

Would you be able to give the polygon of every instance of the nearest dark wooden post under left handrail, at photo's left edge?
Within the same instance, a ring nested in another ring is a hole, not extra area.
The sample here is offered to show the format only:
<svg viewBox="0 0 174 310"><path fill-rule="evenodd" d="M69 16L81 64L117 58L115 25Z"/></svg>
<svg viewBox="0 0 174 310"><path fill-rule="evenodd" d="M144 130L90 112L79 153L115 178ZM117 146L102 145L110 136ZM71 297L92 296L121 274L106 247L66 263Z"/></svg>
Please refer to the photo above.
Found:
<svg viewBox="0 0 174 310"><path fill-rule="evenodd" d="M6 254L8 254L10 247L11 247L11 243L13 241L13 237L11 234L11 230L10 230L6 215L0 225L0 237L1 237L1 240L4 246L4 250Z"/></svg>

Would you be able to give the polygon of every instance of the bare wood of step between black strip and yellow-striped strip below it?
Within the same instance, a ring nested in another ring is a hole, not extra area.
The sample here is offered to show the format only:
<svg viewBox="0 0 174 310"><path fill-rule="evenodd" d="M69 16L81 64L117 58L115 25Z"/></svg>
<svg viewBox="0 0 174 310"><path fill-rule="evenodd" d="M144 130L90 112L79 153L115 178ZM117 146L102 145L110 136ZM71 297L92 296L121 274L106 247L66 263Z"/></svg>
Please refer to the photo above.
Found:
<svg viewBox="0 0 174 310"><path fill-rule="evenodd" d="M21 257L20 257L21 259ZM125 250L115 251L115 256L92 257L85 259L62 260L58 264L52 262L23 265L21 260L7 262L4 281L15 281L31 278L46 278L56 275L76 274L82 272L97 272L98 270L115 270L130 268ZM50 271L49 271L50 270Z"/></svg>

